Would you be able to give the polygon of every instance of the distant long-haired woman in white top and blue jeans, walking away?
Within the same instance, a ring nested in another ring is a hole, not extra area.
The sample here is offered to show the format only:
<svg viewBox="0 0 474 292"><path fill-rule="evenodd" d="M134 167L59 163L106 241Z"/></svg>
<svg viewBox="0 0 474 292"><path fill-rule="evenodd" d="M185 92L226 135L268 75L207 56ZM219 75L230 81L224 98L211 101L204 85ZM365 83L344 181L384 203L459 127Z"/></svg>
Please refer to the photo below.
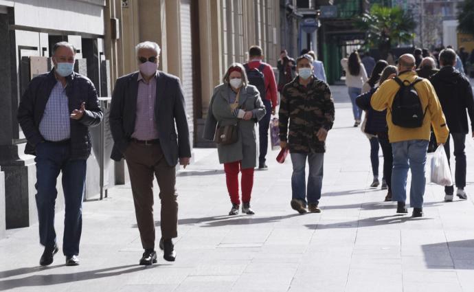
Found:
<svg viewBox="0 0 474 292"><path fill-rule="evenodd" d="M346 85L350 102L352 102L352 113L355 120L354 127L357 127L361 124L362 110L355 103L355 99L361 95L362 85L368 80L367 73L357 52L352 52L349 58L343 58L341 66L346 71Z"/></svg>

